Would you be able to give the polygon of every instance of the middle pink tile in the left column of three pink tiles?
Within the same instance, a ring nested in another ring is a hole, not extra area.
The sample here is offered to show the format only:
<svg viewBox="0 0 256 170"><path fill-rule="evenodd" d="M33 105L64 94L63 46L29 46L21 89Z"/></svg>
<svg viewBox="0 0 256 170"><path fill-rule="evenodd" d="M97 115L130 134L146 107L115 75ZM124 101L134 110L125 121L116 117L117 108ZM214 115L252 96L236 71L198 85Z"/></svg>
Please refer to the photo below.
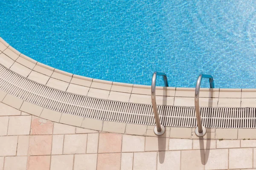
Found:
<svg viewBox="0 0 256 170"><path fill-rule="evenodd" d="M29 155L50 155L52 135L32 135L29 140Z"/></svg>

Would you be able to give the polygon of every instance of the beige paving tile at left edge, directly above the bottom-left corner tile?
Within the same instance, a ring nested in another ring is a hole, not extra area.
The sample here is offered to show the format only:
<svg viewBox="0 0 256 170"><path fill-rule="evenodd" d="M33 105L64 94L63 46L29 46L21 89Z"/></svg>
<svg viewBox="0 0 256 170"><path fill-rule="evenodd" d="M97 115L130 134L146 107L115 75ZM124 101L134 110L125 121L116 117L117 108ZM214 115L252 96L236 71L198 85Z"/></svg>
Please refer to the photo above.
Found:
<svg viewBox="0 0 256 170"><path fill-rule="evenodd" d="M0 156L15 156L18 136L0 136Z"/></svg>

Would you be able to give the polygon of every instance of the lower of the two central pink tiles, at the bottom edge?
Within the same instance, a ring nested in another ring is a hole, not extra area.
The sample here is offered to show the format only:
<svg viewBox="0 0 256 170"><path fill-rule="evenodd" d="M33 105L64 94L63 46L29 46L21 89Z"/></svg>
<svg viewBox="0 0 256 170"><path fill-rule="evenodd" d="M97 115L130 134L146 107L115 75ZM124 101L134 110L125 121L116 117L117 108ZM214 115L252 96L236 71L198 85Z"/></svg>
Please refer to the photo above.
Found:
<svg viewBox="0 0 256 170"><path fill-rule="evenodd" d="M99 153L97 170L119 170L121 166L121 153Z"/></svg>

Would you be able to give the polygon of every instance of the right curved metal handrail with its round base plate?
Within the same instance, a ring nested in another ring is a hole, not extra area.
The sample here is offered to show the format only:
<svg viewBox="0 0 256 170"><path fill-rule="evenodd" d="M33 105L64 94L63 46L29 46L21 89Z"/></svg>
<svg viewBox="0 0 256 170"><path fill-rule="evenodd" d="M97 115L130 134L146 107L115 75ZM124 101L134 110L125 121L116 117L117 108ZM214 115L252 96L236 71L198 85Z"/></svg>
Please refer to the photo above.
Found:
<svg viewBox="0 0 256 170"><path fill-rule="evenodd" d="M198 127L195 128L195 134L198 137L202 137L206 134L206 128L202 126L201 114L200 114L200 107L199 107L199 92L200 92L200 85L202 78L209 79L210 88L214 88L214 79L210 74L200 74L198 76L198 80L195 86L195 112L196 112L196 119Z"/></svg>

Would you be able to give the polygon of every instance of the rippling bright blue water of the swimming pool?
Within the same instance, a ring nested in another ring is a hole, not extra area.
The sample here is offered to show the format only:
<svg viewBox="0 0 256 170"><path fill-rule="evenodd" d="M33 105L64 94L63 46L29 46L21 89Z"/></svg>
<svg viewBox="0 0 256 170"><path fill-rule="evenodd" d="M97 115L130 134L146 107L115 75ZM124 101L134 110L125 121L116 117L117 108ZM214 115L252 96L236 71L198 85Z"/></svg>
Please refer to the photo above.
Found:
<svg viewBox="0 0 256 170"><path fill-rule="evenodd" d="M0 37L96 79L150 85L165 71L170 86L195 87L205 73L216 88L256 88L253 0L1 0Z"/></svg>

